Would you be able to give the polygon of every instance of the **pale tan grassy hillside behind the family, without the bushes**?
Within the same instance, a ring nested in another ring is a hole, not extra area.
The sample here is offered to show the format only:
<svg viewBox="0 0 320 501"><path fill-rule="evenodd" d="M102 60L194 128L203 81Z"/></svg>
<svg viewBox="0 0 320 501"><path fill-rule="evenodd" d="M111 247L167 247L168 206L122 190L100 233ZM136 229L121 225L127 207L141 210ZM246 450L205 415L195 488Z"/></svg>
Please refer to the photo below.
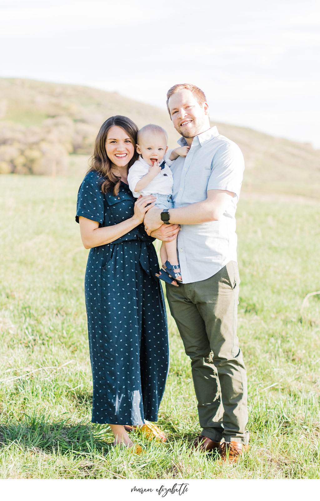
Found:
<svg viewBox="0 0 320 501"><path fill-rule="evenodd" d="M97 130L107 117L114 114L129 116L139 127L150 122L161 125L169 134L171 147L179 137L165 110L133 101L116 92L26 79L0 79L1 121L30 127L40 126L48 118L67 116ZM319 197L320 150L246 127L213 124L221 134L235 141L243 152L246 165L244 191ZM88 155L71 155L67 173L82 173L87 158Z"/></svg>

